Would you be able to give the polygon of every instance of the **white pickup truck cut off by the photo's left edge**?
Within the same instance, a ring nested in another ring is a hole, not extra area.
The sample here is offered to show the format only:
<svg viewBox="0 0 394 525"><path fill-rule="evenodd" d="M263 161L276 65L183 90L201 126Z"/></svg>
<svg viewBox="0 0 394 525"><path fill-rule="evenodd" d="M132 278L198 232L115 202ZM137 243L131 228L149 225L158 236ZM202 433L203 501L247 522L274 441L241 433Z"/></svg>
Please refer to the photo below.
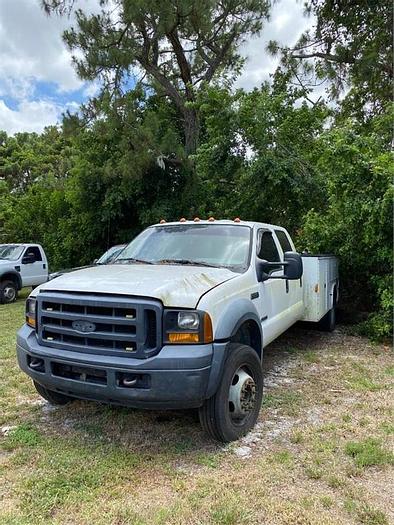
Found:
<svg viewBox="0 0 394 525"><path fill-rule="evenodd" d="M0 244L0 304L15 301L25 286L48 280L48 261L39 244Z"/></svg>

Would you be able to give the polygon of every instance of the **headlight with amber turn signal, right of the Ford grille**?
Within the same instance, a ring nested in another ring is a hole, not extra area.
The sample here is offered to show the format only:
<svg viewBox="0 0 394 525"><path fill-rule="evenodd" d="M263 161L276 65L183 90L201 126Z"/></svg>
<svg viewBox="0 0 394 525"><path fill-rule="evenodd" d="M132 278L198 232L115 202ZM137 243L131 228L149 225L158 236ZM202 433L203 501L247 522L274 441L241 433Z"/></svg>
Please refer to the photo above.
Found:
<svg viewBox="0 0 394 525"><path fill-rule="evenodd" d="M164 342L170 344L198 344L213 341L212 322L200 310L165 310Z"/></svg>

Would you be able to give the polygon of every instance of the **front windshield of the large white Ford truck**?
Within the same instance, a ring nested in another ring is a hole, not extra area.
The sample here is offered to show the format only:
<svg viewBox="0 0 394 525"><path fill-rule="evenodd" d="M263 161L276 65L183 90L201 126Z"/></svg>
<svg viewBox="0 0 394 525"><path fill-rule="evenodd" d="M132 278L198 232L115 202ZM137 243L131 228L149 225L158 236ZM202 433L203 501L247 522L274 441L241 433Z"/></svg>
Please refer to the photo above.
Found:
<svg viewBox="0 0 394 525"><path fill-rule="evenodd" d="M153 226L138 235L115 262L193 264L242 271L248 265L250 238L248 226Z"/></svg>

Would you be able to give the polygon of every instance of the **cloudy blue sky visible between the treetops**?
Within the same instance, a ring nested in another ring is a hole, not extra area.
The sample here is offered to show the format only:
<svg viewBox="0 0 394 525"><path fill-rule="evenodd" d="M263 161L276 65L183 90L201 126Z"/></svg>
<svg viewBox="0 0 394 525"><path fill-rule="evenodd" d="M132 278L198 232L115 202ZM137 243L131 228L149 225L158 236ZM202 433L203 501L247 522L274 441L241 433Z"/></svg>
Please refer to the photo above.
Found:
<svg viewBox="0 0 394 525"><path fill-rule="evenodd" d="M84 10L98 9L98 0L78 4ZM95 83L78 79L62 41L62 32L72 23L72 18L48 17L40 0L0 0L0 130L10 135L41 132L97 91ZM311 24L303 16L303 2L276 3L261 36L241 48L247 62L236 86L250 90L267 80L277 66L265 51L268 41L295 44Z"/></svg>

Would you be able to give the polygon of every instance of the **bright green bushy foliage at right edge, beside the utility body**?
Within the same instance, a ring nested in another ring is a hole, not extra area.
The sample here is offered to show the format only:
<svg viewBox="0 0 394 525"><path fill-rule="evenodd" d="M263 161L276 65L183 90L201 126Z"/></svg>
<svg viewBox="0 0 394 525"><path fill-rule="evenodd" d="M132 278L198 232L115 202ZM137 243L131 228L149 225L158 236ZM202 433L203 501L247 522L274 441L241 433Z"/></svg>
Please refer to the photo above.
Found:
<svg viewBox="0 0 394 525"><path fill-rule="evenodd" d="M325 204L310 210L302 248L340 259L345 302L376 309L363 326L375 338L392 333L393 159L380 133L361 134L352 122L322 134L316 169Z"/></svg>

